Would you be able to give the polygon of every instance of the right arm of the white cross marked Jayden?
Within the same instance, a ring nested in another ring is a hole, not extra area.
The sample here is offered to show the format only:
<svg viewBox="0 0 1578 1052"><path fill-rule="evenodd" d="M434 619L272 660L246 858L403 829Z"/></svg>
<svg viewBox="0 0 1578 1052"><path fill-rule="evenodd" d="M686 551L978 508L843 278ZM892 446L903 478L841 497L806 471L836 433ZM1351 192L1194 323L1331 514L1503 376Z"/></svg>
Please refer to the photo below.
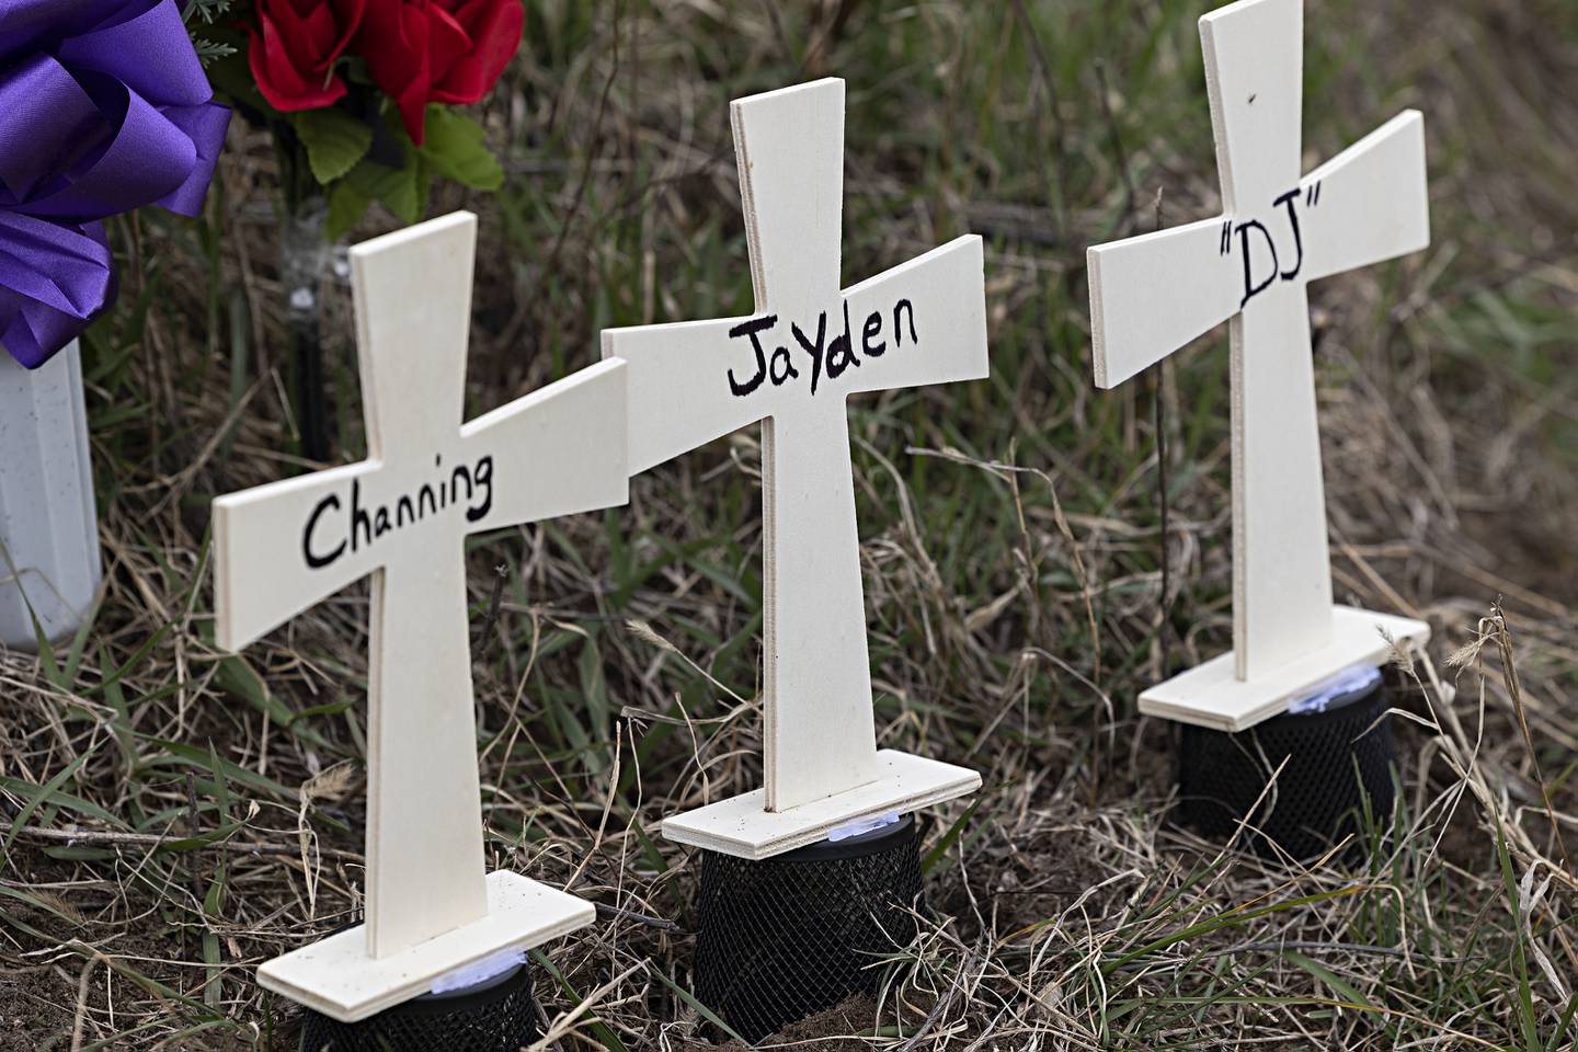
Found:
<svg viewBox="0 0 1578 1052"><path fill-rule="evenodd" d="M955 238L844 290L849 391L980 380L986 361L982 240Z"/></svg>

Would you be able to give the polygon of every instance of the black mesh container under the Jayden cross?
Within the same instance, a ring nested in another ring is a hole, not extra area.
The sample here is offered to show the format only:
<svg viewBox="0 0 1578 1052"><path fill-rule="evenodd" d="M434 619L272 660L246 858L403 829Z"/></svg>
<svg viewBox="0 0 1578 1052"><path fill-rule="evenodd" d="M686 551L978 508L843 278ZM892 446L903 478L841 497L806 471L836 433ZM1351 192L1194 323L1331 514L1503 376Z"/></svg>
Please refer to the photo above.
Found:
<svg viewBox="0 0 1578 1052"><path fill-rule="evenodd" d="M748 861L702 852L696 997L746 1041L874 992L925 908L915 820Z"/></svg>

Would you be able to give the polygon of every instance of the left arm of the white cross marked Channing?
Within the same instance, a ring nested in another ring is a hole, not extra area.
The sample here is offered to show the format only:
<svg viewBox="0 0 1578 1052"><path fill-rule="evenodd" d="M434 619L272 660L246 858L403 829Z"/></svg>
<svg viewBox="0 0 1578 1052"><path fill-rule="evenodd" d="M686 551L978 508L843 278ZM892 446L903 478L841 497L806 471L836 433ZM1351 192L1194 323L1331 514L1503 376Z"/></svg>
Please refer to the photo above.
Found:
<svg viewBox="0 0 1578 1052"><path fill-rule="evenodd" d="M377 470L377 464L365 461L215 498L213 604L219 647L248 647L382 565L371 544L360 555L352 550L353 492L360 494Z"/></svg>

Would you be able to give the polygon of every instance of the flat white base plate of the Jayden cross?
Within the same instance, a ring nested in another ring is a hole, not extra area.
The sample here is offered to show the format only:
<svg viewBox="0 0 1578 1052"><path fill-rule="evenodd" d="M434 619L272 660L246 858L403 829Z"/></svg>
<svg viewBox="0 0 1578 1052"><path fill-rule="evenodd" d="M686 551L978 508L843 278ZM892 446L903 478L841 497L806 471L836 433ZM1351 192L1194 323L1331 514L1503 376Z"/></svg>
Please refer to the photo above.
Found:
<svg viewBox="0 0 1578 1052"><path fill-rule="evenodd" d="M767 790L720 800L663 820L663 836L677 844L761 861L822 841L855 819L890 811L920 811L964 796L982 785L975 771L896 749L877 752L877 781L813 800L789 811L767 811Z"/></svg>

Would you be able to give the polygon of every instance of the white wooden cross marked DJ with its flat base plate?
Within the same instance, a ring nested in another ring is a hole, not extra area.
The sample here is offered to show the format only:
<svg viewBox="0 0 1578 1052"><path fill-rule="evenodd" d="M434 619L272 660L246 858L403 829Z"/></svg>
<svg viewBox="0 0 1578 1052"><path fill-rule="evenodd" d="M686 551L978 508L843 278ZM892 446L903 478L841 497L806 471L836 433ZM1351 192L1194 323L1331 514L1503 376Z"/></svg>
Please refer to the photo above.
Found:
<svg viewBox="0 0 1578 1052"><path fill-rule="evenodd" d="M1417 110L1300 178L1303 0L1199 21L1225 215L1089 251L1095 382L1108 388L1231 320L1234 651L1141 694L1141 711L1242 730L1397 640L1411 618L1333 607L1305 285L1430 244Z"/></svg>

